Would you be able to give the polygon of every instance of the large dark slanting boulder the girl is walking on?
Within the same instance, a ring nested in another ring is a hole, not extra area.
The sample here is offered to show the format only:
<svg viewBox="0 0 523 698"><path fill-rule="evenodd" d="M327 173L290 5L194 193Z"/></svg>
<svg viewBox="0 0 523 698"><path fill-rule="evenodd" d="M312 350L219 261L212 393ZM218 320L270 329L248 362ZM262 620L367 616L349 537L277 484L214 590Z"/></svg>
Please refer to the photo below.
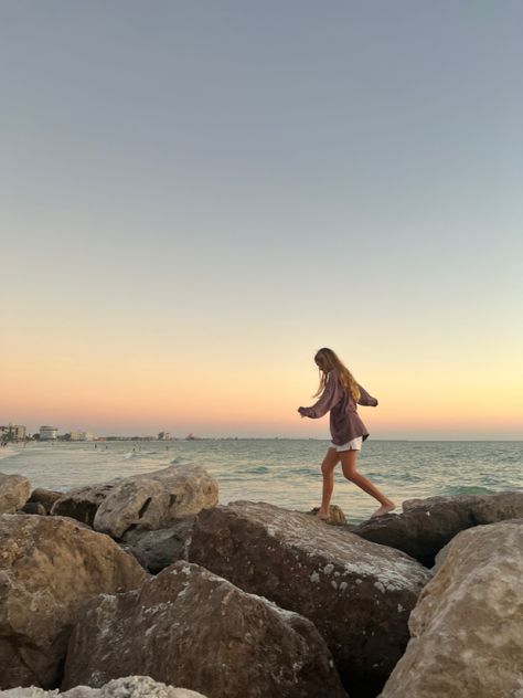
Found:
<svg viewBox="0 0 523 698"><path fill-rule="evenodd" d="M375 696L408 641L429 572L398 550L268 504L202 511L189 559L310 618L352 698Z"/></svg>

